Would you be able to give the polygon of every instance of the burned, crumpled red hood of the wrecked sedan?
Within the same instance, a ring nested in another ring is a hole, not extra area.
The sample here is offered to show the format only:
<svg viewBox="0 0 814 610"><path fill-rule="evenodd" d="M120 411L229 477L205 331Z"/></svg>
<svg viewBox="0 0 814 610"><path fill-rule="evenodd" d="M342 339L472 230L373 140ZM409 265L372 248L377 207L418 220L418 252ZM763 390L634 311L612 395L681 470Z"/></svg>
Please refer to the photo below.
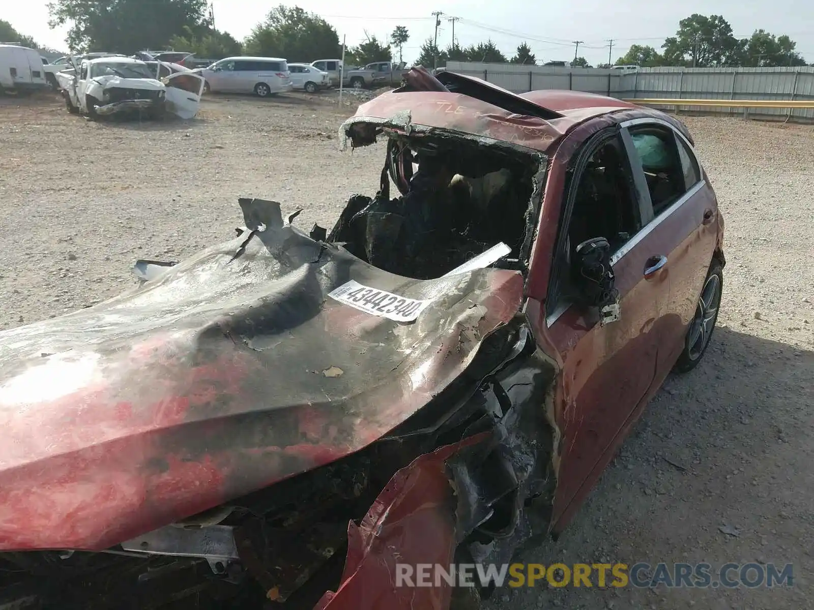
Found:
<svg viewBox="0 0 814 610"><path fill-rule="evenodd" d="M0 550L109 547L357 451L522 304L519 273L394 276L241 203L233 241L0 333ZM371 316L327 296L350 280L431 303Z"/></svg>

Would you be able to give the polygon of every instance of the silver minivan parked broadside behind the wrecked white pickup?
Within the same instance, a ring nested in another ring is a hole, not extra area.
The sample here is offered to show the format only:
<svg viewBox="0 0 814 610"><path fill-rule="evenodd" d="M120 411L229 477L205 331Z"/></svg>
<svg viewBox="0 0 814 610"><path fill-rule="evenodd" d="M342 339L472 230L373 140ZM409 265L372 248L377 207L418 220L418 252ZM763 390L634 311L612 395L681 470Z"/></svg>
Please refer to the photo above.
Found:
<svg viewBox="0 0 814 610"><path fill-rule="evenodd" d="M207 91L266 98L294 86L287 61L277 57L227 57L194 72L204 76Z"/></svg>

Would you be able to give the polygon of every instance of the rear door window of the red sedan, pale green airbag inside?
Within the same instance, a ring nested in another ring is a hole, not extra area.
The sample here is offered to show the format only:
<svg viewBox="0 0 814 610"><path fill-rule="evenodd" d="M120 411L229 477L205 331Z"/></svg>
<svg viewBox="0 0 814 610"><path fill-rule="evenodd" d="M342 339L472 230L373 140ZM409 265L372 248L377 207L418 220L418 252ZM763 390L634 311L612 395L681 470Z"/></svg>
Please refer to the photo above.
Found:
<svg viewBox="0 0 814 610"><path fill-rule="evenodd" d="M631 130L630 137L637 153L631 161L645 172L653 213L659 216L686 192L675 137L672 131L654 128Z"/></svg>

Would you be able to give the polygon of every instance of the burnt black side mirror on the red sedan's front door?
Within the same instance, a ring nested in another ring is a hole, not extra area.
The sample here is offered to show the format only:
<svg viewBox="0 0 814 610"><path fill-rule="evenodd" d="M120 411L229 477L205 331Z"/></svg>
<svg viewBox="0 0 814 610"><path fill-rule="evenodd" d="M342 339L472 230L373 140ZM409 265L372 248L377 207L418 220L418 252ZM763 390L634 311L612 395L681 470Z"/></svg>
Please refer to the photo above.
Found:
<svg viewBox="0 0 814 610"><path fill-rule="evenodd" d="M599 310L599 324L619 320L619 291L610 266L610 243L605 237L594 237L576 246L573 272L577 299L581 305Z"/></svg>

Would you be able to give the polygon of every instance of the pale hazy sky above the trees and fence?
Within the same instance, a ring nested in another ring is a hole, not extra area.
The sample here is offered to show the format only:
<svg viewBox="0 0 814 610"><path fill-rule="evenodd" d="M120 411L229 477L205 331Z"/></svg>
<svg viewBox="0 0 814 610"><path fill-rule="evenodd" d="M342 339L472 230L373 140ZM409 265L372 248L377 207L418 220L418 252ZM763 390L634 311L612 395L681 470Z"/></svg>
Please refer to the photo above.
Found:
<svg viewBox="0 0 814 610"><path fill-rule="evenodd" d="M611 59L624 55L633 44L654 46L657 50L667 36L676 33L679 20L701 13L723 15L736 37L749 37L757 28L770 33L788 34L797 41L797 50L809 63L814 62L814 2L811 0L577 0L542 3L532 0L502 0L481 3L471 0L411 0L380 2L357 0L213 0L215 25L242 40L270 7L278 2L296 4L306 11L322 15L348 46L365 39L365 32L387 40L396 25L404 25L410 38L404 47L404 59L412 62L419 47L434 35L433 11L442 11L438 44L452 41L453 23L458 44L468 46L492 38L504 54L511 56L522 41L527 41L539 62L573 59L575 44L589 63L606 62L608 40L614 39ZM344 4L344 7L342 6ZM770 7L770 10L768 10ZM67 50L65 28L48 27L47 2L0 0L0 19L11 22L18 32L34 37L41 45Z"/></svg>

